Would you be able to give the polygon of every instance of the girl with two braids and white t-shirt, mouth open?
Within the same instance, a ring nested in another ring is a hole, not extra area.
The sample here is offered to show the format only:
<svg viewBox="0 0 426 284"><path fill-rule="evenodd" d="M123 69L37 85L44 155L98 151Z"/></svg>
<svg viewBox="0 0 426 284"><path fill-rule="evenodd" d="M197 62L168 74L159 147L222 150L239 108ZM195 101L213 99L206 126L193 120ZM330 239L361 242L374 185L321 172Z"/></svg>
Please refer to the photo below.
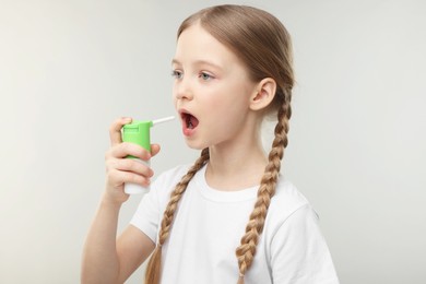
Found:
<svg viewBox="0 0 426 284"><path fill-rule="evenodd" d="M152 152L122 143L110 128L107 181L84 249L83 283L122 283L152 253L147 284L339 283L317 216L280 174L294 84L291 38L271 14L220 5L184 21L171 61L173 95L196 163L162 174L116 240L125 182L153 171L127 155ZM260 128L277 118L269 155Z"/></svg>

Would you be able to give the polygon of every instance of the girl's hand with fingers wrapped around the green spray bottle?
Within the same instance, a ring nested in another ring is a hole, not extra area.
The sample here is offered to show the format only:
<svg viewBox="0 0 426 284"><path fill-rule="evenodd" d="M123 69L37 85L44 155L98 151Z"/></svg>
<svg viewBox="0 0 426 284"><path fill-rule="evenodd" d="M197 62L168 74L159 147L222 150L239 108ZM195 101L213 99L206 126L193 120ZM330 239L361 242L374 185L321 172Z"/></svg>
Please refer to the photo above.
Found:
<svg viewBox="0 0 426 284"><path fill-rule="evenodd" d="M122 142L121 128L132 121L131 118L119 118L109 129L111 147L105 155L106 164L106 198L114 203L121 204L129 199L125 193L125 184L133 182L146 187L154 171L146 165L126 158L128 155L149 161L159 152L159 145L152 144L151 153L133 143Z"/></svg>

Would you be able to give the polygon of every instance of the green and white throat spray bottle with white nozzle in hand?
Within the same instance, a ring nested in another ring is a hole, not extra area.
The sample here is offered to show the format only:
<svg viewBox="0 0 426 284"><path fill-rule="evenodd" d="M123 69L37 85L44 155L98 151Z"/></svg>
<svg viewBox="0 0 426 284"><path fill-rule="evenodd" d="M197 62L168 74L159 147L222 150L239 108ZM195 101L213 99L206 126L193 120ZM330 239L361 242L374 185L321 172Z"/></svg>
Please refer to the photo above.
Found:
<svg viewBox="0 0 426 284"><path fill-rule="evenodd" d="M133 120L131 123L122 127L122 141L138 144L149 152L151 152L151 138L150 130L153 126L173 120L175 117L165 117L156 120ZM127 158L133 158L139 163L150 166L150 162L142 161L134 156L127 156ZM141 185L128 182L125 185L125 192L127 194L141 194L146 193L150 190L149 187L142 187Z"/></svg>

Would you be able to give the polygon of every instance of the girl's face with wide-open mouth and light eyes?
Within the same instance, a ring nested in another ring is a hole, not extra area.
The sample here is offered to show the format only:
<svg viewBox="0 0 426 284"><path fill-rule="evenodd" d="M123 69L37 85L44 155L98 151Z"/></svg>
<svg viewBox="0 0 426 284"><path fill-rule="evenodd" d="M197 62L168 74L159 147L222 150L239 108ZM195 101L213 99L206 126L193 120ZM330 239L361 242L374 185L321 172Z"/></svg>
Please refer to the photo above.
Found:
<svg viewBox="0 0 426 284"><path fill-rule="evenodd" d="M194 24L179 36L171 64L174 103L190 147L251 139L257 116L249 104L257 84L234 52Z"/></svg>

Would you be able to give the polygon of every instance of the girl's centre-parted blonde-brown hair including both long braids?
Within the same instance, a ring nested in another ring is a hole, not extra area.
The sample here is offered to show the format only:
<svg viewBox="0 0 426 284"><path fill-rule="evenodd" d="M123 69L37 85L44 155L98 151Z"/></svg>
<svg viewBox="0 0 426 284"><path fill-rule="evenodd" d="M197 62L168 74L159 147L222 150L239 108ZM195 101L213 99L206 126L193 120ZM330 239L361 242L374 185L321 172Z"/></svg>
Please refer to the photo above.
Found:
<svg viewBox="0 0 426 284"><path fill-rule="evenodd" d="M179 38L180 34L194 23L200 23L213 37L233 50L246 64L253 82L272 78L277 85L274 99L268 108L269 114L277 114L275 137L268 156L268 165L260 181L253 211L249 216L240 246L236 248L239 268L237 284L244 284L244 276L255 259L268 209L275 193L281 159L288 143L288 120L292 116L291 99L294 85L291 37L275 16L246 5L226 4L203 9L182 22L177 37ZM163 215L158 242L146 269L145 284L159 284L162 246L170 233L178 202L191 178L206 164L209 158L209 149L204 149L201 156L171 192Z"/></svg>

